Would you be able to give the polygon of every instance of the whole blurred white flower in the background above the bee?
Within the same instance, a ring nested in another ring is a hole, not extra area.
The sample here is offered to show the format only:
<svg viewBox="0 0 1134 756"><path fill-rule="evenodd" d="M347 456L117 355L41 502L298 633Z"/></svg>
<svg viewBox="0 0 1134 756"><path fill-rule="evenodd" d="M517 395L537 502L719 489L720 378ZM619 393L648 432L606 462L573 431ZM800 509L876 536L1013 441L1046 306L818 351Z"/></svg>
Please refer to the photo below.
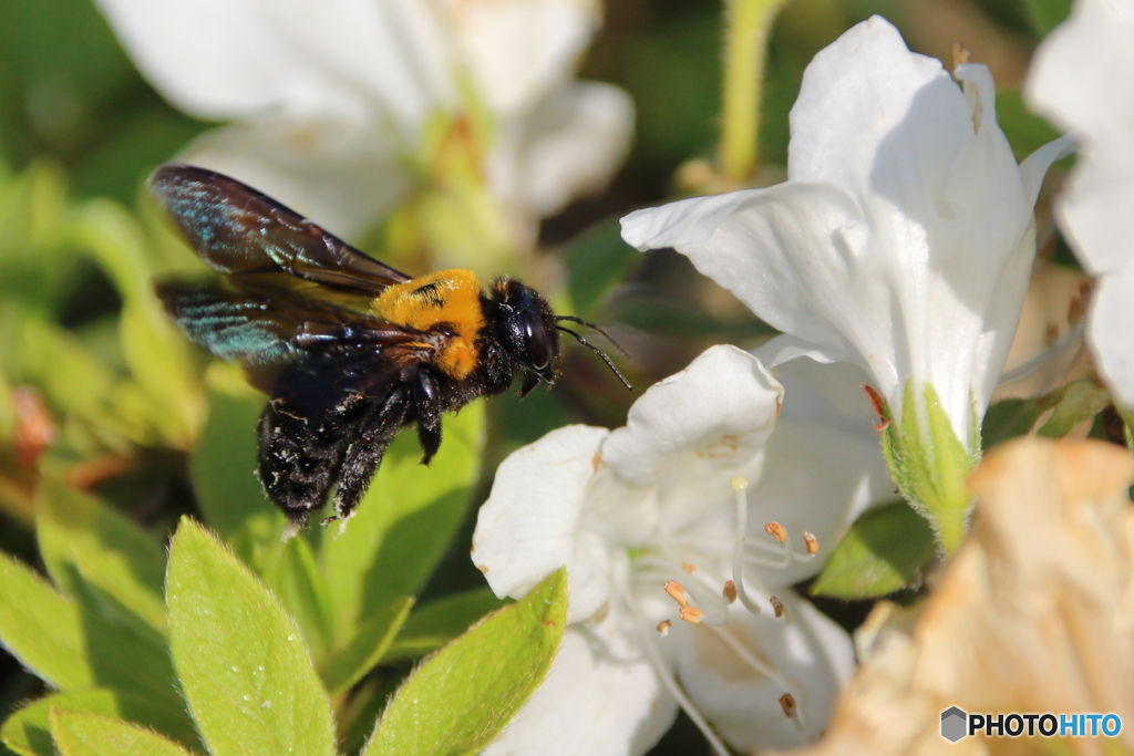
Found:
<svg viewBox="0 0 1134 756"><path fill-rule="evenodd" d="M528 236L538 216L601 186L629 144L625 93L572 80L599 0L98 5L170 102L235 121L184 159L338 233L372 226L429 171L422 151L438 138L428 131L439 116L475 120L486 110L494 136L471 150L485 153L479 169Z"/></svg>

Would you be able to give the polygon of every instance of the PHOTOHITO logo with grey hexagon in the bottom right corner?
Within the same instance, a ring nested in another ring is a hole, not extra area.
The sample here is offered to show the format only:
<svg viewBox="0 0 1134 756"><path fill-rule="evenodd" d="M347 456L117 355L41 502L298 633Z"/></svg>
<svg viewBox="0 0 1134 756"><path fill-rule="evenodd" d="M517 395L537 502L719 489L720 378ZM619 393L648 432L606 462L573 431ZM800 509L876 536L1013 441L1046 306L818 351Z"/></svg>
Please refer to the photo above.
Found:
<svg viewBox="0 0 1134 756"><path fill-rule="evenodd" d="M957 706L941 712L941 737L949 742L979 732L987 738L1114 738L1122 731L1117 714L966 714Z"/></svg>

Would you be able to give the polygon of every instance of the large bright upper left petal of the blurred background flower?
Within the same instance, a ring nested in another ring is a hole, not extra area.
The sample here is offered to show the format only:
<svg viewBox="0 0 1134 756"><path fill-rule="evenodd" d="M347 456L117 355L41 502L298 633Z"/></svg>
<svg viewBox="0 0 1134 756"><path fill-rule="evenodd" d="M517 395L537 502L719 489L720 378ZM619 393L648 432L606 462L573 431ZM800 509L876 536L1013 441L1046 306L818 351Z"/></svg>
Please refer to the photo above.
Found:
<svg viewBox="0 0 1134 756"><path fill-rule="evenodd" d="M418 0L99 0L138 68L200 118L376 111L412 131L451 102L446 44Z"/></svg>

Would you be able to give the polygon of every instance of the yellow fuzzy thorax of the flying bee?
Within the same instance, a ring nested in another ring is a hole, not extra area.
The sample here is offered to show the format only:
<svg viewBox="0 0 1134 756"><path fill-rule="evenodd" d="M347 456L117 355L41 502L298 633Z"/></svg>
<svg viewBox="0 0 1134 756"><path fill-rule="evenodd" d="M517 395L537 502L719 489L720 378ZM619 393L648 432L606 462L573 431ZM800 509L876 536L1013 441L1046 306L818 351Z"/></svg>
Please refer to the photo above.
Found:
<svg viewBox="0 0 1134 756"><path fill-rule="evenodd" d="M484 312L481 282L472 271L435 271L391 286L374 299L373 307L382 320L418 331L448 324L455 335L433 364L457 380L476 367L476 332L484 325Z"/></svg>

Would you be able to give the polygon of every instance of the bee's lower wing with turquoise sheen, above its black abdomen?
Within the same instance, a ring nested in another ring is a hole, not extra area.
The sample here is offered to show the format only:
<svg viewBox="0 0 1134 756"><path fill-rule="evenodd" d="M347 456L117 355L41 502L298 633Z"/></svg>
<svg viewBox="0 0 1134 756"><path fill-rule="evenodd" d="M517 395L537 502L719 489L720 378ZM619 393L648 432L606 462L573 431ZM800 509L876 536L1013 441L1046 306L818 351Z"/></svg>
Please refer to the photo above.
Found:
<svg viewBox="0 0 1134 756"><path fill-rule="evenodd" d="M272 391L280 371L307 350L361 343L376 351L422 338L288 289L229 291L219 283L175 280L159 283L158 296L191 341L243 365L263 391Z"/></svg>

